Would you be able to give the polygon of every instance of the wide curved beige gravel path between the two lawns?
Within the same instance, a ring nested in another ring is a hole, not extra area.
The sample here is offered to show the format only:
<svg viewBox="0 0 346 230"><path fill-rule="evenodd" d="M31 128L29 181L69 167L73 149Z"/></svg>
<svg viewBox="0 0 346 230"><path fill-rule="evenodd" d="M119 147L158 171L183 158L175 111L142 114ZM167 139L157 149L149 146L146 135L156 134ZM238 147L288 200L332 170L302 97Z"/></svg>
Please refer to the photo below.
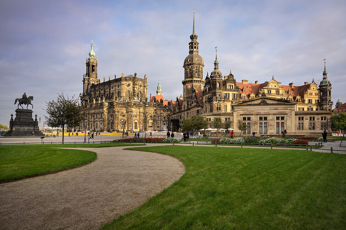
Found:
<svg viewBox="0 0 346 230"><path fill-rule="evenodd" d="M1 184L0 229L97 229L135 209L185 172L174 157L123 148L80 148L96 152L97 160Z"/></svg>

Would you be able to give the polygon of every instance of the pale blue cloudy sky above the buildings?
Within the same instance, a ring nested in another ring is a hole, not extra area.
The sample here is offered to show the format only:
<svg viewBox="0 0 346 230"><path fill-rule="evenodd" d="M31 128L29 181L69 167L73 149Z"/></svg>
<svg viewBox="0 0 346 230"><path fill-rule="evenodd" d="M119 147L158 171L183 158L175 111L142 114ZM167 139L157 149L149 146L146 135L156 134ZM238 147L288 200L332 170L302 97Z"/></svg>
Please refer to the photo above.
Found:
<svg viewBox="0 0 346 230"><path fill-rule="evenodd" d="M34 96L44 120L57 93L79 96L91 40L98 75L148 78L148 95L182 92L193 8L204 78L230 69L237 82L274 78L282 85L318 84L324 59L333 108L346 102L346 1L16 1L0 7L0 124L9 125L15 98Z"/></svg>

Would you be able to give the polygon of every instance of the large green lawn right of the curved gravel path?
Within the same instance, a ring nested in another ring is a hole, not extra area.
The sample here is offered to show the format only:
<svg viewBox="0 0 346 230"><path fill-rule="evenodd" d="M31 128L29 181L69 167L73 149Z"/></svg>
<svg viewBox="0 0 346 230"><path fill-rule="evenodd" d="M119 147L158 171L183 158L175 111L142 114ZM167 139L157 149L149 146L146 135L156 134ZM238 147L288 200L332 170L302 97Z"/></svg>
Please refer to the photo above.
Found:
<svg viewBox="0 0 346 230"><path fill-rule="evenodd" d="M346 155L306 150L154 146L182 178L101 229L344 229Z"/></svg>

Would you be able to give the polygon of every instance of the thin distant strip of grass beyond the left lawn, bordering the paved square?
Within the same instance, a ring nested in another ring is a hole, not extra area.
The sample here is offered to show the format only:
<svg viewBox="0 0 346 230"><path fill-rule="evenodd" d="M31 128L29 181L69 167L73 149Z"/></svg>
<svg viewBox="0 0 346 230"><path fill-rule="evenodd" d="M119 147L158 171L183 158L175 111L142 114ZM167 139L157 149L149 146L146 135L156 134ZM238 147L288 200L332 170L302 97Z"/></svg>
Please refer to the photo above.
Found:
<svg viewBox="0 0 346 230"><path fill-rule="evenodd" d="M130 143L95 143L95 144L26 144L26 145L7 145L16 147L37 147L37 148L101 148L101 147L116 147L116 146L132 146L144 144L130 144Z"/></svg>

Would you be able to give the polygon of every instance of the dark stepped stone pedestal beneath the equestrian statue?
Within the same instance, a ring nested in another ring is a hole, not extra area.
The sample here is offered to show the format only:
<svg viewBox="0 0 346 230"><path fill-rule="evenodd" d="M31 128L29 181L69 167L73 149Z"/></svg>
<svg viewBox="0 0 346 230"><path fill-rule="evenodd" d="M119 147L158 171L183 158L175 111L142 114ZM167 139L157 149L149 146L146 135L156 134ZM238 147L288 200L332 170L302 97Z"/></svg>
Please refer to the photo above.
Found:
<svg viewBox="0 0 346 230"><path fill-rule="evenodd" d="M44 136L39 130L37 115L33 119L33 111L31 109L16 109L16 117L13 120L11 115L10 126L8 131L3 135L4 137L32 137L34 132L35 136Z"/></svg>

